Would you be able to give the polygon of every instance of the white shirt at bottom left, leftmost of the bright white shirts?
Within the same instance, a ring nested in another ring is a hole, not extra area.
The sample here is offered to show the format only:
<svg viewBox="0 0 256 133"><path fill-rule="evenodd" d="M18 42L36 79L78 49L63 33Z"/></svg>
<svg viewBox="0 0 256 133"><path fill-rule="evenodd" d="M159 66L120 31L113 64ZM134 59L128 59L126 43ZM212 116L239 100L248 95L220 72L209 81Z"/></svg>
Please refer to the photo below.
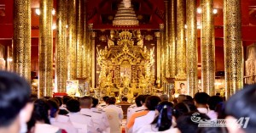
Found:
<svg viewBox="0 0 256 133"><path fill-rule="evenodd" d="M68 133L78 133L78 130L72 125L68 116L58 115L57 118L50 118L50 124L66 130Z"/></svg>

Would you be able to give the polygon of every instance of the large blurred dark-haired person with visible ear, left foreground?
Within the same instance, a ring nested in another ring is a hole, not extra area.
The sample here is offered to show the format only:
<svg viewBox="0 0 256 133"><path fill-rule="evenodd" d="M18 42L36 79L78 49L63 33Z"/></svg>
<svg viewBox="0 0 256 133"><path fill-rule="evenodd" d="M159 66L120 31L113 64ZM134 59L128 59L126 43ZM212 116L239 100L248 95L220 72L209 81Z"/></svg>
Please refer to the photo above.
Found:
<svg viewBox="0 0 256 133"><path fill-rule="evenodd" d="M0 132L26 132L32 114L31 87L14 73L0 71Z"/></svg>

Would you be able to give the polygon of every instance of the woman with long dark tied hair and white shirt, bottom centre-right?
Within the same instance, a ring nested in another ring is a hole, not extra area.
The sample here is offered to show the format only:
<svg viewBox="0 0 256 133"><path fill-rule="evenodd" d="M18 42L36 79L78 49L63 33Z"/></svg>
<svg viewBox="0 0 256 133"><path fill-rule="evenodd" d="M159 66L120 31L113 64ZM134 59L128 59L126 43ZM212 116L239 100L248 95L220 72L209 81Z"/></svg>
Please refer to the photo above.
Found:
<svg viewBox="0 0 256 133"><path fill-rule="evenodd" d="M174 126L176 125L172 124L172 121L174 121L174 117L172 116L172 106L173 104L167 101L159 103L156 108L156 111L158 112L157 117L151 124L143 125L137 133L158 131L177 132L177 129L174 129Z"/></svg>

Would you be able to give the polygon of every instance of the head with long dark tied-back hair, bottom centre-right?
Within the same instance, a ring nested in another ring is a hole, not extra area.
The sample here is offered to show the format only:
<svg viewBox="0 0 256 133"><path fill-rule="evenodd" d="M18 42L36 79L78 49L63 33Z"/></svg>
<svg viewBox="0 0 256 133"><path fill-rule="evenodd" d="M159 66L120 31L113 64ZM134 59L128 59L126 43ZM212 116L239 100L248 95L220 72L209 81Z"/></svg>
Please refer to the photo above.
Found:
<svg viewBox="0 0 256 133"><path fill-rule="evenodd" d="M172 107L173 104L167 101L158 104L156 109L159 115L154 119L152 124L156 124L159 131L168 130L172 126Z"/></svg>

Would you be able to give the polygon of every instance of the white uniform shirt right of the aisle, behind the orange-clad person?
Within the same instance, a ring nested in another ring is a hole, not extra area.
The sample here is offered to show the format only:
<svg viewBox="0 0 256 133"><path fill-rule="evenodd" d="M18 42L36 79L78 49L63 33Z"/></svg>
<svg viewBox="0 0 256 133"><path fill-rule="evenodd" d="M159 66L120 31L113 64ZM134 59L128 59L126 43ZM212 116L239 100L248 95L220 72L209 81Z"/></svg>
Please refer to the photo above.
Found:
<svg viewBox="0 0 256 133"><path fill-rule="evenodd" d="M149 125L154 121L155 118L155 111L151 110L148 112L148 114L143 115L142 117L138 117L134 121L134 125L132 127L132 133L137 133L138 130L143 125Z"/></svg>

